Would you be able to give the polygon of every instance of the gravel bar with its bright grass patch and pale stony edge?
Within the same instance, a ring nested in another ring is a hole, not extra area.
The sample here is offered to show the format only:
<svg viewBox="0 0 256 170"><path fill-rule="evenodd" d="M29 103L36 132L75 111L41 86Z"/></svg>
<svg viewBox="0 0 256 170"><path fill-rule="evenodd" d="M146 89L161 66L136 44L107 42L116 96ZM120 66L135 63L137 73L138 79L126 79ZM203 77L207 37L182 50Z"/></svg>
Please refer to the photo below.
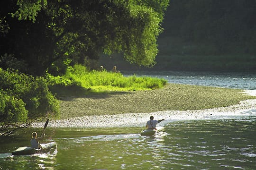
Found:
<svg viewBox="0 0 256 170"><path fill-rule="evenodd" d="M256 103L256 96L246 95L242 89L168 84L163 79L123 77L105 70L81 74L85 72L75 66L63 76L79 82L82 90L69 85L54 89L60 100L60 117L50 121L50 127L144 126L151 114L156 119L191 119L219 114L222 108L232 115L254 108ZM40 123L32 126L40 127Z"/></svg>

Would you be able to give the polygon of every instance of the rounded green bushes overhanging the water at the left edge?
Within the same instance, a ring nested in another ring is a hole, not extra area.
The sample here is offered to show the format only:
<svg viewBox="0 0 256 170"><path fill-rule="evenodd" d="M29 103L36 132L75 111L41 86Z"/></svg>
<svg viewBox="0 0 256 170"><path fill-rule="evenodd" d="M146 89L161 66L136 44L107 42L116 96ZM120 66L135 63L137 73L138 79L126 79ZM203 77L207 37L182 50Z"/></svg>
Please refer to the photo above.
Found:
<svg viewBox="0 0 256 170"><path fill-rule="evenodd" d="M2 121L20 122L58 116L58 101L49 92L46 80L34 78L18 71L0 69Z"/></svg>

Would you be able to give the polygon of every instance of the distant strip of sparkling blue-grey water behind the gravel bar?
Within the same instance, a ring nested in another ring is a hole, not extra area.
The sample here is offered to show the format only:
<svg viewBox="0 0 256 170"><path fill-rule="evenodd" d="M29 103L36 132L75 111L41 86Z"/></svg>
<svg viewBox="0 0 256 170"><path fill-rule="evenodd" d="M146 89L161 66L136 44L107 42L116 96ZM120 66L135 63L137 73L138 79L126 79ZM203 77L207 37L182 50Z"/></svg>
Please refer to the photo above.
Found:
<svg viewBox="0 0 256 170"><path fill-rule="evenodd" d="M161 72L124 72L125 76L152 76L164 78L168 83L187 85L207 85L226 88L256 89L256 73L237 72L182 72L182 71L161 71Z"/></svg>

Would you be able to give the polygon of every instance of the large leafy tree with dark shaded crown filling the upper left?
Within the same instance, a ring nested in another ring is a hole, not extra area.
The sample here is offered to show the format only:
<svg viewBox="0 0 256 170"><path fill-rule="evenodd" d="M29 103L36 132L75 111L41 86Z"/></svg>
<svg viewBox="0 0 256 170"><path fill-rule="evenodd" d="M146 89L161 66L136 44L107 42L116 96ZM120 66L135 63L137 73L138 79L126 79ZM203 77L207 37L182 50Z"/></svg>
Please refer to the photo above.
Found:
<svg viewBox="0 0 256 170"><path fill-rule="evenodd" d="M169 0L6 1L0 1L0 18L9 26L0 36L1 55L13 53L26 61L24 71L42 75L55 61L83 63L101 52L153 66Z"/></svg>

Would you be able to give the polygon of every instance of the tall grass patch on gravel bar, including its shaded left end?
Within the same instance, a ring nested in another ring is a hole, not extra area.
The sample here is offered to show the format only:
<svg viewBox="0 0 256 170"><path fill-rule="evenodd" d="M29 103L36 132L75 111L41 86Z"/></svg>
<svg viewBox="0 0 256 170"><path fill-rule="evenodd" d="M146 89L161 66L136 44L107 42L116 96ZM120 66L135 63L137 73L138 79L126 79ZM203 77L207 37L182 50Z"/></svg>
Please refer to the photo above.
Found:
<svg viewBox="0 0 256 170"><path fill-rule="evenodd" d="M49 84L63 87L81 87L91 92L137 91L162 88L167 84L165 79L153 77L123 76L121 73L106 70L88 70L82 65L74 65L64 76L48 75ZM53 89L53 88L52 88ZM56 90L56 88L55 88ZM75 89L73 89L75 91ZM80 93L80 92L79 92Z"/></svg>

